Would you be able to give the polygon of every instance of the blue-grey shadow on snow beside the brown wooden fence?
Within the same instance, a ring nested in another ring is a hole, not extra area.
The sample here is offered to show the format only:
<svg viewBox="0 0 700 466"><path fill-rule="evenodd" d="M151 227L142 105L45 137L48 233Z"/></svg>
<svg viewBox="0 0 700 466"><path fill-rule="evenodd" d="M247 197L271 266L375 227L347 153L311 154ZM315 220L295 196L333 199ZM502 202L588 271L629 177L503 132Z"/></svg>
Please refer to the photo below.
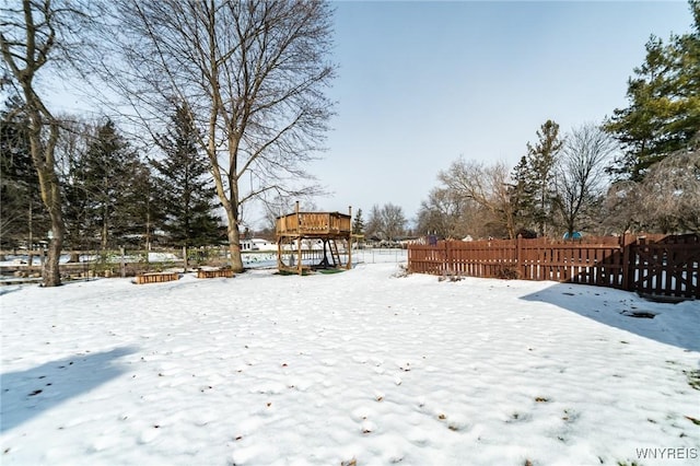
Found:
<svg viewBox="0 0 700 466"><path fill-rule="evenodd" d="M573 283L556 283L522 299L555 304L662 343L700 351L697 301L655 303L628 291Z"/></svg>

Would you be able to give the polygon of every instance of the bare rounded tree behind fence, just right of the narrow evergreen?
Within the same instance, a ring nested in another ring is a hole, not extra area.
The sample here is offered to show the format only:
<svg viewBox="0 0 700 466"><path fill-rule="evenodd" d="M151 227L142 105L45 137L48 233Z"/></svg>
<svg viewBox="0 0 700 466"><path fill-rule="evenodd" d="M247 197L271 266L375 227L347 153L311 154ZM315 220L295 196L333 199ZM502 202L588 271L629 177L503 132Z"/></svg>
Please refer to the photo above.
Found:
<svg viewBox="0 0 700 466"><path fill-rule="evenodd" d="M565 138L555 167L555 206L570 237L602 201L607 186L605 168L616 150L612 138L600 127L585 124Z"/></svg>

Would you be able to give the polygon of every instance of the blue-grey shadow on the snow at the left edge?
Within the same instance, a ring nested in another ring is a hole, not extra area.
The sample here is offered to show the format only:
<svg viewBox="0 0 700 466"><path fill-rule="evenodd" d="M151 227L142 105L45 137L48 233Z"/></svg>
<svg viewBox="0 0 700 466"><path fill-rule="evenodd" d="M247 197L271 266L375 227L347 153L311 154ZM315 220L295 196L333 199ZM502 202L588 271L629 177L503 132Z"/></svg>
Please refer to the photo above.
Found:
<svg viewBox="0 0 700 466"><path fill-rule="evenodd" d="M1 374L0 433L117 377L125 371L115 361L133 352L130 347L115 348Z"/></svg>

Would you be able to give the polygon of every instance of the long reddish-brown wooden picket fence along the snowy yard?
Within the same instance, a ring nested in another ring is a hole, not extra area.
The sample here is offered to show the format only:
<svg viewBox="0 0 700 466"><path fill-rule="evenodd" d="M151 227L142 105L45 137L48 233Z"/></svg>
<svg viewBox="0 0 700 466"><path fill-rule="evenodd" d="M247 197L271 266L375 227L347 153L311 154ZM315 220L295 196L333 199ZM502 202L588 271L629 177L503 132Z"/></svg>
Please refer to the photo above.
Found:
<svg viewBox="0 0 700 466"><path fill-rule="evenodd" d="M700 236L441 241L408 246L411 272L521 278L700 298Z"/></svg>

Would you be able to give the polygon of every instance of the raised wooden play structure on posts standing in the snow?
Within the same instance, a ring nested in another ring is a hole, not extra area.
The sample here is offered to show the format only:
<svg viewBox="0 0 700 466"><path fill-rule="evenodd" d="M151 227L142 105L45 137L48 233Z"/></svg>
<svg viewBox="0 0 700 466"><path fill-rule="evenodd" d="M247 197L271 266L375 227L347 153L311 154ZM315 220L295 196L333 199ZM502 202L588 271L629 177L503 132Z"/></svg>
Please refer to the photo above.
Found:
<svg viewBox="0 0 700 466"><path fill-rule="evenodd" d="M277 218L277 266L303 275L352 267L352 208L348 213L301 212Z"/></svg>

